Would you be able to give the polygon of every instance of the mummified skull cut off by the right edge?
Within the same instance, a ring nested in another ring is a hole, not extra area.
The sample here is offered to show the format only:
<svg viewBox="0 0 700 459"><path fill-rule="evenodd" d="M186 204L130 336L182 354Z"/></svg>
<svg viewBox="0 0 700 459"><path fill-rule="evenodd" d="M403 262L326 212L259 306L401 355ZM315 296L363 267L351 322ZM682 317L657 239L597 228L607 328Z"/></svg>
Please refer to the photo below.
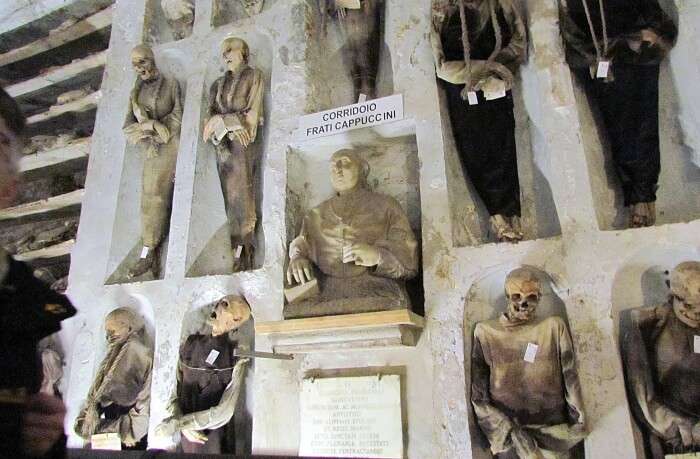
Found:
<svg viewBox="0 0 700 459"><path fill-rule="evenodd" d="M686 261L671 272L673 311L681 322L700 328L700 262Z"/></svg>

